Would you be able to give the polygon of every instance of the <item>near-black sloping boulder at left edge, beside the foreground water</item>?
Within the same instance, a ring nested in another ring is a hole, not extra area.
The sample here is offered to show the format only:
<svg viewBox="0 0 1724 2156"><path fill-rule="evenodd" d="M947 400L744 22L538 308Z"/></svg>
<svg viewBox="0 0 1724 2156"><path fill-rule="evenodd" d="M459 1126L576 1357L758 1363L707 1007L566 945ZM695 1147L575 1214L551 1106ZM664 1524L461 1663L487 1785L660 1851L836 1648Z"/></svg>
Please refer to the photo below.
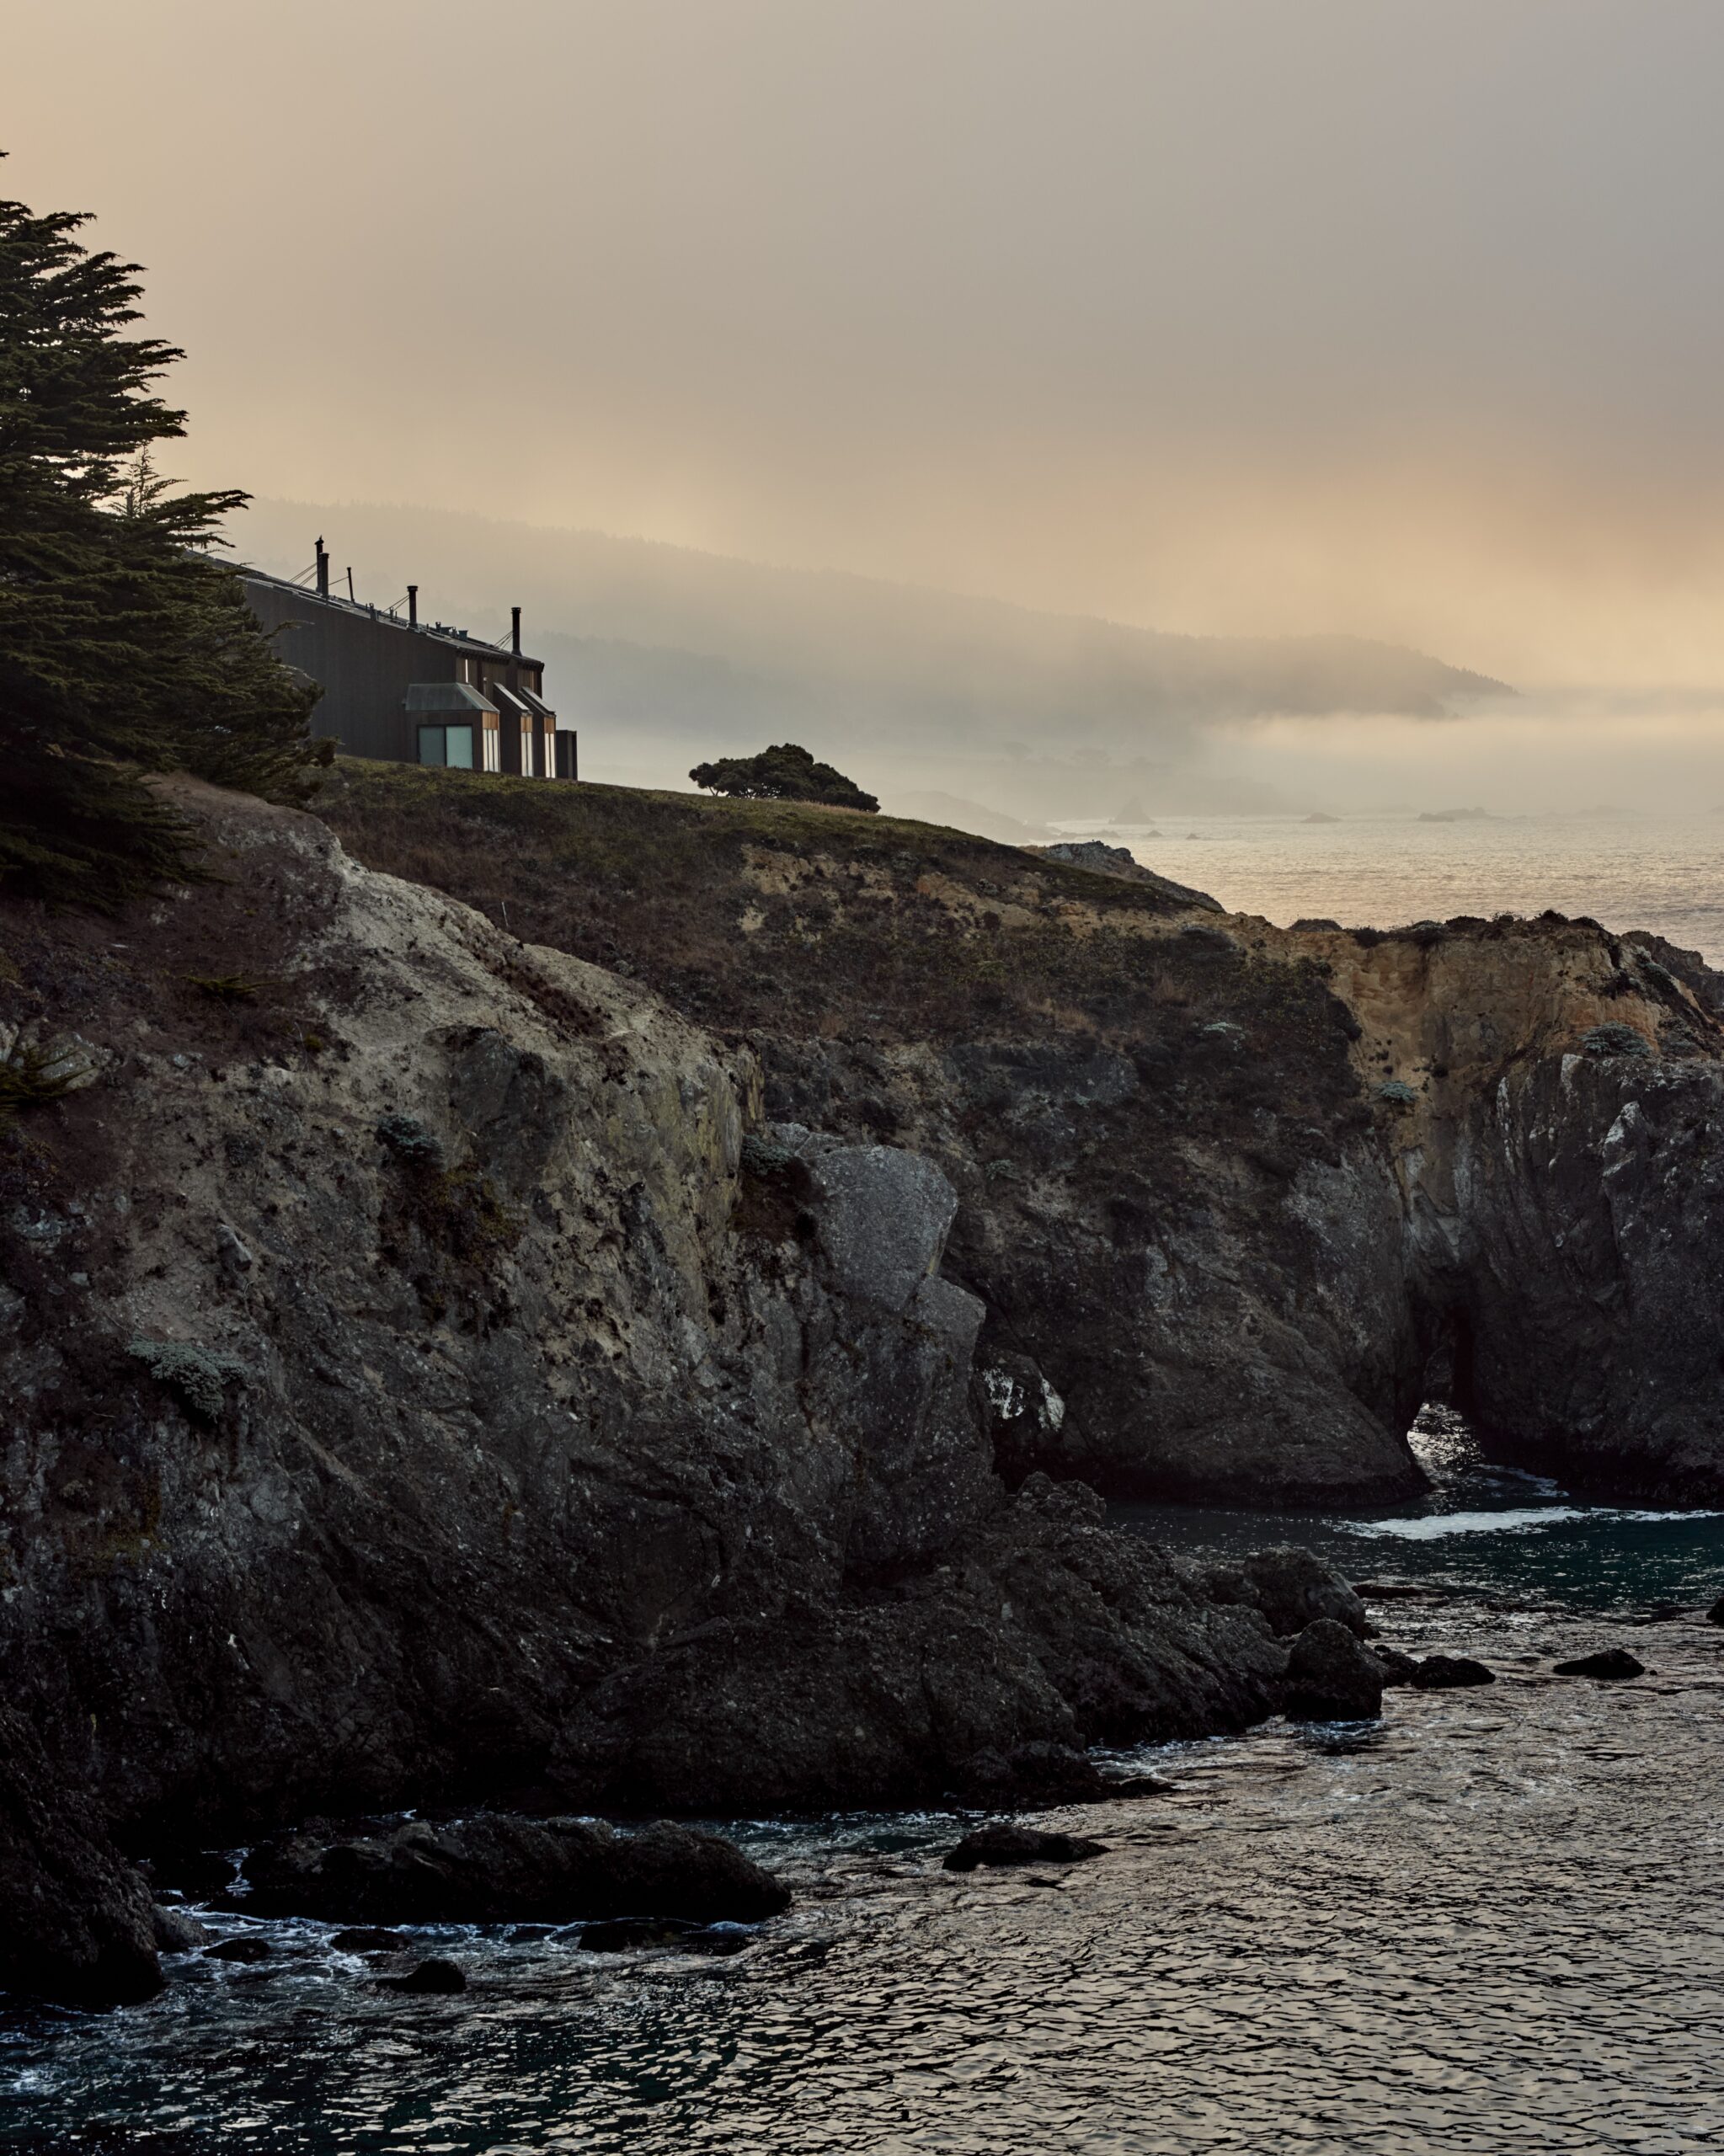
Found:
<svg viewBox="0 0 1724 2156"><path fill-rule="evenodd" d="M129 2005L162 1990L155 1953L142 1876L30 1723L0 1708L0 1990Z"/></svg>

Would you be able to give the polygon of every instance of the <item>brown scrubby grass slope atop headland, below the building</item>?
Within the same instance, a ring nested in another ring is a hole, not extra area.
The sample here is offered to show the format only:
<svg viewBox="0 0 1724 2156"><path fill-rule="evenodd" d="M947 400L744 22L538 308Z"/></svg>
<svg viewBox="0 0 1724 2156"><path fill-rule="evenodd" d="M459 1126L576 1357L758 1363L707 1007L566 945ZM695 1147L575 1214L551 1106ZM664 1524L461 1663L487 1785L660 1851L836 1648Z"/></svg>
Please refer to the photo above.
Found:
<svg viewBox="0 0 1724 2156"><path fill-rule="evenodd" d="M793 802L472 778L343 759L319 815L366 867L524 942L640 975L726 1037L1174 1046L1211 1097L1347 1091L1338 1007L1261 923L968 832ZM1202 1026L1228 1022L1231 1039ZM1183 1072L1181 1072L1183 1076ZM1304 1080L1304 1082L1302 1082ZM1220 1106L1220 1100L1215 1102Z"/></svg>

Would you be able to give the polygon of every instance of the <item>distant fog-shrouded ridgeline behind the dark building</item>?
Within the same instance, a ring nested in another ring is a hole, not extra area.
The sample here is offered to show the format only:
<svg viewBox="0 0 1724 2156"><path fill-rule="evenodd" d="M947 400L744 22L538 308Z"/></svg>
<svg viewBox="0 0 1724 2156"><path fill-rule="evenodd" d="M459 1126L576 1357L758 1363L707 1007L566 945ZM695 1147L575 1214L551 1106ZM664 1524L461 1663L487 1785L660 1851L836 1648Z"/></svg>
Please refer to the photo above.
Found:
<svg viewBox="0 0 1724 2156"><path fill-rule="evenodd" d="M287 556L317 513L254 502L246 545L254 558ZM444 511L345 505L340 526L356 556L418 561L474 608L526 599L554 701L584 724L677 735L705 752L795 740L840 761L875 748L1129 757L1224 720L1444 718L1504 690L1358 636L1168 636Z"/></svg>

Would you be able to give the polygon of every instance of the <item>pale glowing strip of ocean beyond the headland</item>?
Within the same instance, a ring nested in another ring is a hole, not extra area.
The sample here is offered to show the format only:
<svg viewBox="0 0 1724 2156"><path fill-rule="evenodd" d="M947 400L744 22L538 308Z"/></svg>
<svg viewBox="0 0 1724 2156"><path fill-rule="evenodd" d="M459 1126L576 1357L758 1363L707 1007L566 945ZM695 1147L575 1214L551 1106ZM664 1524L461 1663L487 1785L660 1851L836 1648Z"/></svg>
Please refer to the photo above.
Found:
<svg viewBox="0 0 1724 2156"><path fill-rule="evenodd" d="M1588 914L1653 929L1724 966L1724 815L1541 815L1420 824L1414 811L1336 824L1302 817L1168 817L1142 826L1060 824L1127 845L1144 867L1194 884L1231 912L1289 927L1403 927L1450 914Z"/></svg>

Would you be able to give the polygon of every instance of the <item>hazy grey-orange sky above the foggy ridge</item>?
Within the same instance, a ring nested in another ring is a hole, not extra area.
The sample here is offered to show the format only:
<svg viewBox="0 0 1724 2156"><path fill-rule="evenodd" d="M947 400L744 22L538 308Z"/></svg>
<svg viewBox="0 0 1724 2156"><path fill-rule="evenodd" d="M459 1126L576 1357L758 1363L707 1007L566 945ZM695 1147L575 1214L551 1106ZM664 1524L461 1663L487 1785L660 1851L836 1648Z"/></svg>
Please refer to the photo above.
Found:
<svg viewBox="0 0 1724 2156"><path fill-rule="evenodd" d="M6 0L170 468L1724 683L1720 0Z"/></svg>

